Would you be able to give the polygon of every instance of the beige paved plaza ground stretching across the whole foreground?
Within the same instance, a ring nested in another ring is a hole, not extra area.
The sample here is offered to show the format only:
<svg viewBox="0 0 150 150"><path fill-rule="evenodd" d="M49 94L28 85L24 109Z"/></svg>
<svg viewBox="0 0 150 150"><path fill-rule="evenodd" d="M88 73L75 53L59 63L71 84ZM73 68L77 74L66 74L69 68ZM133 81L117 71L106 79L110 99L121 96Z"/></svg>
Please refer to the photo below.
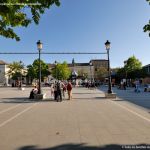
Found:
<svg viewBox="0 0 150 150"><path fill-rule="evenodd" d="M74 88L73 99L28 99L31 88L0 88L0 150L150 149L150 92ZM66 95L67 97L67 95Z"/></svg>

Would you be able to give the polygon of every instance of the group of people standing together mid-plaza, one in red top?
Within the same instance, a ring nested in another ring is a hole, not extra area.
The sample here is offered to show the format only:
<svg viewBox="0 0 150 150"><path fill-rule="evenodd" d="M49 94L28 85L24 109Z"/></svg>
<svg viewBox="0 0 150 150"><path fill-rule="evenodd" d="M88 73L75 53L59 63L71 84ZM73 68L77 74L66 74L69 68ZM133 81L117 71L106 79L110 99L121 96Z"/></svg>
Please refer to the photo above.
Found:
<svg viewBox="0 0 150 150"><path fill-rule="evenodd" d="M51 85L51 97L54 96L54 100L56 101L62 101L62 99L65 99L66 91L68 93L68 100L71 100L72 84L70 81L68 81L68 83L58 81Z"/></svg>

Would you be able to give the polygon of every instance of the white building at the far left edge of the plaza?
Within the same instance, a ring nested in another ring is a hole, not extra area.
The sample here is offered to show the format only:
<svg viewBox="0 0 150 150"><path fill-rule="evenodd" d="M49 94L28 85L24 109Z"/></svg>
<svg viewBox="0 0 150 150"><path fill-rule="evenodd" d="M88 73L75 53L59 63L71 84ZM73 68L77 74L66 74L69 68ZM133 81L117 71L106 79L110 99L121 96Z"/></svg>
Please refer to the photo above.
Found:
<svg viewBox="0 0 150 150"><path fill-rule="evenodd" d="M8 85L9 76L7 75L9 68L8 64L0 60L0 85Z"/></svg>

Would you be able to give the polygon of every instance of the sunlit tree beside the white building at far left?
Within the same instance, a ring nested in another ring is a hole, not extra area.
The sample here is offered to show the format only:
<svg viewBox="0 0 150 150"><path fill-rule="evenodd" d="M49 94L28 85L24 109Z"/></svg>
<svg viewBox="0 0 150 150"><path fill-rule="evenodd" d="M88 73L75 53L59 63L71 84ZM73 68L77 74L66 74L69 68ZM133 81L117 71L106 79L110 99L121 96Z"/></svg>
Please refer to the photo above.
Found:
<svg viewBox="0 0 150 150"><path fill-rule="evenodd" d="M24 69L24 64L22 62L16 62L14 61L13 63L8 65L8 72L7 74L11 76L13 80L17 80L18 77L22 75L22 70Z"/></svg>

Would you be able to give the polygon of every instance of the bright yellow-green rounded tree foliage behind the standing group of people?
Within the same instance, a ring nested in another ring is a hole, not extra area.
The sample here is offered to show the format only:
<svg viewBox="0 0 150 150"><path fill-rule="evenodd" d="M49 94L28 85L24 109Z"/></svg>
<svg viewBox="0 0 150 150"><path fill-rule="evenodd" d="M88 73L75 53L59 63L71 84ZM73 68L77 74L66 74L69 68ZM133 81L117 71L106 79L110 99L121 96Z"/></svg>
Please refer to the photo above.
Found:
<svg viewBox="0 0 150 150"><path fill-rule="evenodd" d="M66 62L58 63L52 70L52 76L58 80L66 80L70 75L71 71Z"/></svg>

